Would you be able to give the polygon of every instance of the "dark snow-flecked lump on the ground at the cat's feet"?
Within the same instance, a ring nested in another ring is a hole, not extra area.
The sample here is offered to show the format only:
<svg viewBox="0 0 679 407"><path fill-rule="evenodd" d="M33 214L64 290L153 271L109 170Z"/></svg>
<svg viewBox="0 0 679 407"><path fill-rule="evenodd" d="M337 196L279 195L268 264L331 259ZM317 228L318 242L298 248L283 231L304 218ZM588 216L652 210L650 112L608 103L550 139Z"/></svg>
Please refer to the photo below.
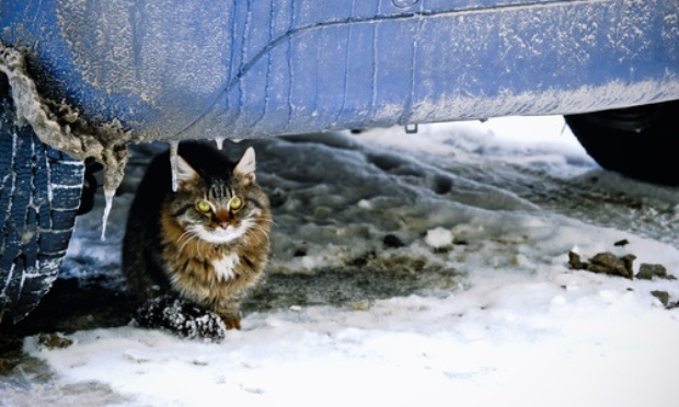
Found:
<svg viewBox="0 0 679 407"><path fill-rule="evenodd" d="M148 300L137 309L134 318L142 327L161 328L182 338L211 342L222 341L227 329L232 328L214 312L169 295Z"/></svg>

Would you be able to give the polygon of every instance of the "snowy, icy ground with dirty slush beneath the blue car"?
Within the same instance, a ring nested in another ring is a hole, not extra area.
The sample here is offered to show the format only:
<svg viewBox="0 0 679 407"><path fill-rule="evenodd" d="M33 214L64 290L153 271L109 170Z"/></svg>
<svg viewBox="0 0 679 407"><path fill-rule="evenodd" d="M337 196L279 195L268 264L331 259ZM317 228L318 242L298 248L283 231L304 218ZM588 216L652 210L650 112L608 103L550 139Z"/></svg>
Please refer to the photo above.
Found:
<svg viewBox="0 0 679 407"><path fill-rule="evenodd" d="M634 254L635 271L679 277L679 190L602 172L563 127L255 142L275 206L269 279L219 345L127 325L119 242L157 151L140 149L108 240L99 197L54 291L74 289L35 322L72 345L27 336L0 405L675 406L679 309L659 298L671 307L679 282L571 270L567 253Z"/></svg>

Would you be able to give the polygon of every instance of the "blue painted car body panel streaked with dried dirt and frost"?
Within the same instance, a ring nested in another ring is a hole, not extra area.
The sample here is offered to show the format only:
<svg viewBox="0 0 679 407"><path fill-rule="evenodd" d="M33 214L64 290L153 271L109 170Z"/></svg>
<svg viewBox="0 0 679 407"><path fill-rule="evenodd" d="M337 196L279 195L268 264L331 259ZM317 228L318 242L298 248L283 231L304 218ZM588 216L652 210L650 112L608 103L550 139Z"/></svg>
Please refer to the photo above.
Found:
<svg viewBox="0 0 679 407"><path fill-rule="evenodd" d="M0 0L38 86L139 139L679 98L679 1Z"/></svg>

